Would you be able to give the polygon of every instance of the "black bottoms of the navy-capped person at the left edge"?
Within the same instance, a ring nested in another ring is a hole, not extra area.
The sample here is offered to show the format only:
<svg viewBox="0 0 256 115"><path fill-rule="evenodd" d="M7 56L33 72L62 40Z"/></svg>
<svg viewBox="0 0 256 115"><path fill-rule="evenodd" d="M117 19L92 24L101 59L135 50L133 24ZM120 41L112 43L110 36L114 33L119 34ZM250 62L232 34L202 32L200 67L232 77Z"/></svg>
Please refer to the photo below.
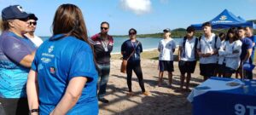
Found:
<svg viewBox="0 0 256 115"><path fill-rule="evenodd" d="M28 115L27 98L0 98L6 115Z"/></svg>

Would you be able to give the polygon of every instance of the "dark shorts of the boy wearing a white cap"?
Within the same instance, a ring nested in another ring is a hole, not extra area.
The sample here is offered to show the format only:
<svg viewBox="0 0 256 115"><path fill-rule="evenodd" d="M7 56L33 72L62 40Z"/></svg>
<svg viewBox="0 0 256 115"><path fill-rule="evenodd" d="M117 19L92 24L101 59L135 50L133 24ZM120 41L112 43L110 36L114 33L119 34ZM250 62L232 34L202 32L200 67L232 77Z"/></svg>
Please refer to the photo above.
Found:
<svg viewBox="0 0 256 115"><path fill-rule="evenodd" d="M173 61L172 60L159 60L160 72L168 71L173 72Z"/></svg>

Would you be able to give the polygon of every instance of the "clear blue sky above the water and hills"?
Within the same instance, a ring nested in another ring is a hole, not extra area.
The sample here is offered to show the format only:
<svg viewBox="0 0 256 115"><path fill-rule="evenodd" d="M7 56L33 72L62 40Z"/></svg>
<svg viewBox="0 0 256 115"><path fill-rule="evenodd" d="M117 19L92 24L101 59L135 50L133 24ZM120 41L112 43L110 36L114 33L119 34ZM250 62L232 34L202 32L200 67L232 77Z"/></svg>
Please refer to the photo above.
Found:
<svg viewBox="0 0 256 115"><path fill-rule="evenodd" d="M165 28L186 28L212 20L224 9L245 20L256 20L256 0L0 0L0 9L19 4L36 14L38 36L51 36L55 10L73 3L82 10L89 36L100 32L102 21L110 24L110 35L158 33Z"/></svg>

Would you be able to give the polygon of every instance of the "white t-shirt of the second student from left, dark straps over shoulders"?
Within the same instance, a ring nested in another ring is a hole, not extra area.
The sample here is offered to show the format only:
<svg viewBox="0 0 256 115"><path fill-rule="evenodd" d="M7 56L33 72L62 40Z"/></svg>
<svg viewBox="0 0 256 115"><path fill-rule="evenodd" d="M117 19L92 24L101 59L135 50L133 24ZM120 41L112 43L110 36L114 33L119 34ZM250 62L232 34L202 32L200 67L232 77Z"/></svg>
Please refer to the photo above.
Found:
<svg viewBox="0 0 256 115"><path fill-rule="evenodd" d="M187 39L185 41L185 49L183 48L183 41L180 42L180 47L183 49L181 53L181 60L194 61L195 60L195 37L192 39Z"/></svg>

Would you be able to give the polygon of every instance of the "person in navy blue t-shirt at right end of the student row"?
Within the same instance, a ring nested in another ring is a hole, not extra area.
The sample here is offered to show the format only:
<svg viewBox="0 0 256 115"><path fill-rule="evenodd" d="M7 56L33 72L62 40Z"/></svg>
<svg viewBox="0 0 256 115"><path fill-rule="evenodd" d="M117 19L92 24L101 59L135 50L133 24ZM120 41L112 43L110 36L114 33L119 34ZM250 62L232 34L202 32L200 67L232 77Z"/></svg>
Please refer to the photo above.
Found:
<svg viewBox="0 0 256 115"><path fill-rule="evenodd" d="M245 35L246 33L246 28L245 27L238 27L238 36L241 40L241 66L245 62L250 62L252 63L252 60L250 60L250 57L252 55L252 50L253 50L253 42L249 38L247 38ZM240 67L241 69L241 67ZM244 76L242 76L244 75ZM253 72L249 72L247 70L241 70L240 71L240 76L243 78L248 78L252 79L253 78Z"/></svg>

